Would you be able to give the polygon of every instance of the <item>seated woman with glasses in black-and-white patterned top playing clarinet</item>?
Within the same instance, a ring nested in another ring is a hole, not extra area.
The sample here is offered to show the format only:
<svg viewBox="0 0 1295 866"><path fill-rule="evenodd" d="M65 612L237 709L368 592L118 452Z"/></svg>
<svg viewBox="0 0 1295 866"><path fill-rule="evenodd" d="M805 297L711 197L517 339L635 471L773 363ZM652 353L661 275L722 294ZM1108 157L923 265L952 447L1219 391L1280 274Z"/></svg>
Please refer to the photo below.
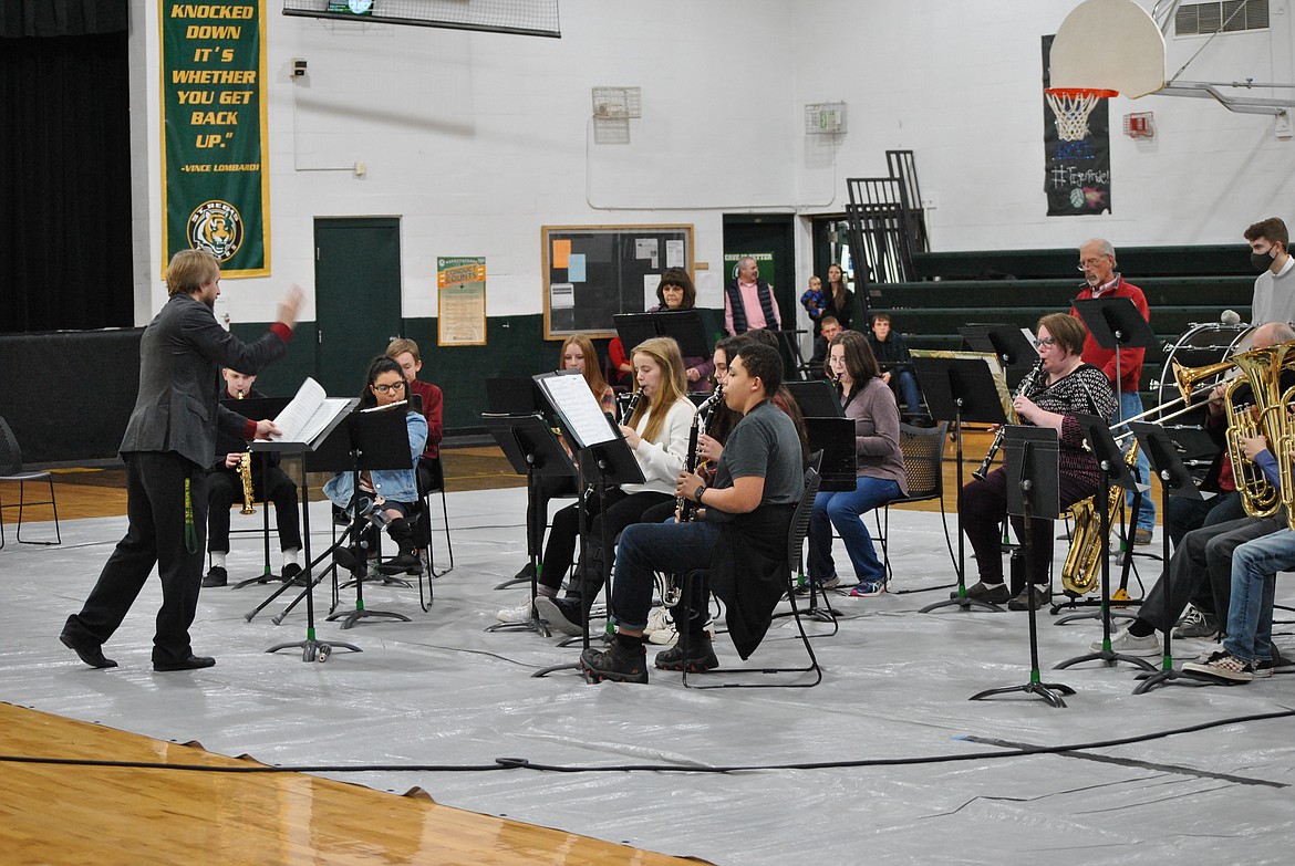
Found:
<svg viewBox="0 0 1295 866"><path fill-rule="evenodd" d="M1098 368L1080 357L1084 350L1084 325L1074 316L1053 313L1039 320L1039 365L1027 374L1023 387L1013 397L1017 418L1023 425L1052 427L1058 432L1058 488L1061 507L1067 509L1097 492L1098 466L1084 449L1084 434L1075 416L1105 418L1115 416L1115 394ZM1006 602L1010 593L1002 583L1002 546L1000 524L1008 514L1008 471L998 467L984 480L974 480L958 496L962 531L975 551L980 583L967 586L967 597L983 602ZM1033 518L1030 537L1024 537L1024 519L1011 518L1022 545L1030 546L1031 573L1020 594L1011 599L1011 610L1042 607L1048 603L1052 572L1053 522Z"/></svg>

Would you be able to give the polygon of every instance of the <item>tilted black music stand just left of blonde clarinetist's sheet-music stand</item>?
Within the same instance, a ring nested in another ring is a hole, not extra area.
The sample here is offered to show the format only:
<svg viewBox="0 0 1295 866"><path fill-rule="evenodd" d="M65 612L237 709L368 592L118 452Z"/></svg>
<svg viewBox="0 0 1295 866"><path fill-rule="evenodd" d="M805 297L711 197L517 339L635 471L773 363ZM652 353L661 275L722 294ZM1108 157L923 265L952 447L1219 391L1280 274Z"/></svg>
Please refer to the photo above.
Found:
<svg viewBox="0 0 1295 866"><path fill-rule="evenodd" d="M486 422L486 428L504 450L513 471L518 475L526 475L528 514L535 514L539 510L536 478L548 475L570 478L575 475L575 465L540 413L528 416L482 414L482 421ZM531 561L531 617L524 623L496 623L487 628L487 632L524 630L539 632L544 637L549 637L548 625L535 612L535 595L540 584L543 536L544 518L541 515L539 526L531 522L526 527L526 553Z"/></svg>

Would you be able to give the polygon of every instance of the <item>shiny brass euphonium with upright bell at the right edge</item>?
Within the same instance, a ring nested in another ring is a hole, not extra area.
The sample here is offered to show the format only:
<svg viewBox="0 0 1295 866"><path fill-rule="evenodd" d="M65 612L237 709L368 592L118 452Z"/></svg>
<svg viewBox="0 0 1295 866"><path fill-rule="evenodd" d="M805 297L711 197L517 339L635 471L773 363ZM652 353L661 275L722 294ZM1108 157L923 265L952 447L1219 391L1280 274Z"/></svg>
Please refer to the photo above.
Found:
<svg viewBox="0 0 1295 866"><path fill-rule="evenodd" d="M1295 357L1295 343L1252 348L1232 359L1243 373L1229 386L1224 396L1228 413L1228 456L1241 493L1241 504L1252 518L1267 518L1282 505L1282 493L1273 488L1263 471L1246 457L1243 439L1263 435L1269 447L1281 448L1286 423L1286 404L1282 403L1281 374L1286 362ZM1252 405L1237 405L1237 390L1242 383L1254 392ZM1277 453L1277 452L1274 452Z"/></svg>

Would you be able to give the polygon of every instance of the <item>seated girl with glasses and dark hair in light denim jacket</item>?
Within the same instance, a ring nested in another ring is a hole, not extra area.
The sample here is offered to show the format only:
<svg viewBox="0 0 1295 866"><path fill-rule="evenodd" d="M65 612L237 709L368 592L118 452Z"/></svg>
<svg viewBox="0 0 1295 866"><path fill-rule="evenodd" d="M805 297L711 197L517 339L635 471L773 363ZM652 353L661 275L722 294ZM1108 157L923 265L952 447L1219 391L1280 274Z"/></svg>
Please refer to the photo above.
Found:
<svg viewBox="0 0 1295 866"><path fill-rule="evenodd" d="M414 476L414 467L422 454L422 447L427 441L427 419L416 412L408 403L408 382L400 364L390 357L378 357L369 364L369 374L365 379L364 390L360 392L359 409L376 409L392 406L392 412L400 412L396 404L404 403L405 430L409 434L409 467L390 469L360 472L359 498L368 498L376 502L376 513L381 513L387 520L387 535L395 541L399 554L382 563L382 573L399 575L422 573L422 561L414 553L414 524L409 519L414 502L418 501L418 483ZM338 472L328 484L324 493L341 509L354 514L352 501L356 498L354 472ZM338 549L337 559L344 568L352 568L356 551Z"/></svg>

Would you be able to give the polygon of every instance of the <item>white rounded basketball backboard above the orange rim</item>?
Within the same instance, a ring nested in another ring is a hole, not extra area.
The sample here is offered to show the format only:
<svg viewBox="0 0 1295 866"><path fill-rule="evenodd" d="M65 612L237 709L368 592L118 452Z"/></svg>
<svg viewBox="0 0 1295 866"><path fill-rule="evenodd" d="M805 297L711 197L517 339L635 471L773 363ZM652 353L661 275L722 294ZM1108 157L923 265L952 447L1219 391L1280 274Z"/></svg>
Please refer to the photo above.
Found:
<svg viewBox="0 0 1295 866"><path fill-rule="evenodd" d="M1164 87L1164 35L1133 0L1084 0L1057 30L1049 83L1129 98L1155 93Z"/></svg>

